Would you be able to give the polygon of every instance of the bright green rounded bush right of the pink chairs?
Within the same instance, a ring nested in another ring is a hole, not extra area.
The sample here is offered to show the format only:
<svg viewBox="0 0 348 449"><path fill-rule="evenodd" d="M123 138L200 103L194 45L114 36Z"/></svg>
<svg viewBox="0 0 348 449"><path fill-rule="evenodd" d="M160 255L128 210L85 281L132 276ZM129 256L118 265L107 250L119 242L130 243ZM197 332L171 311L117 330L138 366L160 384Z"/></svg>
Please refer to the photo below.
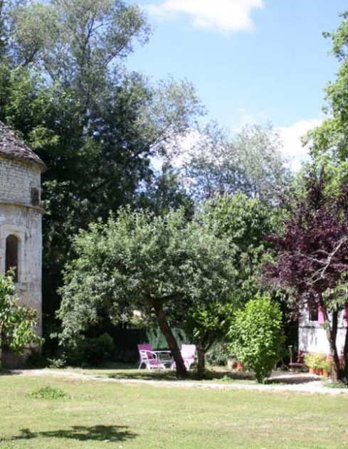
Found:
<svg viewBox="0 0 348 449"><path fill-rule="evenodd" d="M279 305L258 295L236 312L231 335L233 354L263 382L279 361L285 341Z"/></svg>

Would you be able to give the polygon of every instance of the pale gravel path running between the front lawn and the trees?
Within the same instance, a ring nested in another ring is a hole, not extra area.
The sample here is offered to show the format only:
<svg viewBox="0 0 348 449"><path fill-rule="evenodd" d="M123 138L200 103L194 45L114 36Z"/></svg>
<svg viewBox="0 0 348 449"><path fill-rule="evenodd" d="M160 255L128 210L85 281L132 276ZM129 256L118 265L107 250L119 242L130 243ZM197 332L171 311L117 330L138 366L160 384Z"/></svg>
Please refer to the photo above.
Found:
<svg viewBox="0 0 348 449"><path fill-rule="evenodd" d="M319 376L311 374L288 374L276 373L271 379L276 379L281 384L244 384L238 382L218 383L211 381L156 381L144 379L112 379L110 377L97 376L94 374L80 374L73 371L53 370L53 369L26 369L12 370L11 374L21 376L60 376L70 379L99 382L118 382L127 385L151 385L166 388L197 388L216 390L248 390L248 391L292 391L299 393L320 393L320 394L344 394L348 397L348 389L330 388L322 384Z"/></svg>

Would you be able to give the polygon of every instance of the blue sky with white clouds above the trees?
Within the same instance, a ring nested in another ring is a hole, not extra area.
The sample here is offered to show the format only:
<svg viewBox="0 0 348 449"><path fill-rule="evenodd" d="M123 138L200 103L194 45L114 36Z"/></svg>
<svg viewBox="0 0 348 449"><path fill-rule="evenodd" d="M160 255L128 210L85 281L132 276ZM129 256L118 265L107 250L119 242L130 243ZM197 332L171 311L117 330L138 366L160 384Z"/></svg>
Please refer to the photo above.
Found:
<svg viewBox="0 0 348 449"><path fill-rule="evenodd" d="M129 68L190 80L209 116L231 130L270 120L286 151L299 157L298 137L322 119L323 88L337 70L322 31L339 25L347 1L136 3L147 10L154 33L136 48Z"/></svg>

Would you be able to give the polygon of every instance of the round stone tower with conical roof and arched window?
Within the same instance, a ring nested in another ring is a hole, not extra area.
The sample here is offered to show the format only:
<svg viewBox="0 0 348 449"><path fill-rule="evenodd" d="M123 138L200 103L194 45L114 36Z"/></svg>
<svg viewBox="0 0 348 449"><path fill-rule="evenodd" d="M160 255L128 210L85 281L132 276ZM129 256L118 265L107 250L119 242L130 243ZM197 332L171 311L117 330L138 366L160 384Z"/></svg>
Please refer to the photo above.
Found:
<svg viewBox="0 0 348 449"><path fill-rule="evenodd" d="M45 164L0 122L0 273L16 268L16 292L38 312L41 334L41 172ZM17 367L21 358L3 351L1 364Z"/></svg>

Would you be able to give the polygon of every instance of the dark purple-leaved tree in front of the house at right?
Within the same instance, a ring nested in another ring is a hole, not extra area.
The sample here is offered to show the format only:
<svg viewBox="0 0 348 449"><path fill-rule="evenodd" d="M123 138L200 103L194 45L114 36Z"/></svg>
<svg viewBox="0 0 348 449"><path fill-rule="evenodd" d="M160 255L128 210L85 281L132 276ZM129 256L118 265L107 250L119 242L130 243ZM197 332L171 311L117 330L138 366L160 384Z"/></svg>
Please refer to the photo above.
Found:
<svg viewBox="0 0 348 449"><path fill-rule="evenodd" d="M347 303L347 200L346 188L330 198L325 194L323 174L319 179L311 176L307 195L285 223L284 235L269 238L279 251L275 265L268 266L269 276L275 285L290 289L295 310L321 308L337 379L344 376L336 340L339 310ZM347 357L348 332L344 344L346 376Z"/></svg>

